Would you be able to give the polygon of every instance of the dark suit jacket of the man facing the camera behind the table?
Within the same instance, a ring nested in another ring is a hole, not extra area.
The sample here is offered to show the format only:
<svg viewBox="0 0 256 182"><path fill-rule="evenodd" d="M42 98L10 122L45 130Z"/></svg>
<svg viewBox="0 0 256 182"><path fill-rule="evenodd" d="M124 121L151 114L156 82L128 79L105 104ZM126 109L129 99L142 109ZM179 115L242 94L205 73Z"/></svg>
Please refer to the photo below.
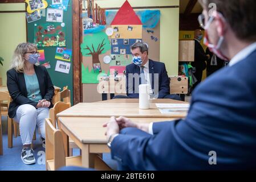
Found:
<svg viewBox="0 0 256 182"><path fill-rule="evenodd" d="M158 94L159 94L159 96L158 96L158 98L164 98L165 96L170 94L170 81L169 81L169 77L167 75L167 71L165 69L165 65L164 65L164 63L153 61L151 59L149 59L148 61L149 61L149 74L150 73L152 74L152 76L150 77L152 90L155 90L155 94L157 94L156 89L154 88L155 78L156 78L156 77L154 77L154 73L159 73L159 77L158 77L158 89L159 89ZM132 64L127 65L125 68L127 96L129 98L139 98L139 83L140 83L140 81L137 82L137 84L136 84L135 77L131 77L131 75L129 75L129 73L132 73L132 74L137 73L137 75L140 75L140 67L132 63ZM129 82L131 83L131 81L132 81L132 84L129 84ZM131 90L130 93L129 93L129 90Z"/></svg>

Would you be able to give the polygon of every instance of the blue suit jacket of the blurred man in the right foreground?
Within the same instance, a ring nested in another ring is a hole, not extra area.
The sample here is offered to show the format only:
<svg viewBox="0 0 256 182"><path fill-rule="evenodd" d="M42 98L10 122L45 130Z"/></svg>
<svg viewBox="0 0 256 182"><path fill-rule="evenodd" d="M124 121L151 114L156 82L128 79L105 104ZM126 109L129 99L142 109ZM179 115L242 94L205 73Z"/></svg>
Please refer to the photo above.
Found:
<svg viewBox="0 0 256 182"><path fill-rule="evenodd" d="M255 61L256 51L198 85L186 119L153 123L149 137L115 137L112 158L132 170L255 169Z"/></svg>

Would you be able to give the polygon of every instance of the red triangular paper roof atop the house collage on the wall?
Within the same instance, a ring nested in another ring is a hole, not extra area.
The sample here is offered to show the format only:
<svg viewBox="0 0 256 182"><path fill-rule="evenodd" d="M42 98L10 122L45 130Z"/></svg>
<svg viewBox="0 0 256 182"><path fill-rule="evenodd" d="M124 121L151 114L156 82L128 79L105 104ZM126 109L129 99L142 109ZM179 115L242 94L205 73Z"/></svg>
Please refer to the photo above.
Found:
<svg viewBox="0 0 256 182"><path fill-rule="evenodd" d="M128 1L125 1L123 6L120 7L111 25L118 24L141 24L140 18L136 15L135 11Z"/></svg>

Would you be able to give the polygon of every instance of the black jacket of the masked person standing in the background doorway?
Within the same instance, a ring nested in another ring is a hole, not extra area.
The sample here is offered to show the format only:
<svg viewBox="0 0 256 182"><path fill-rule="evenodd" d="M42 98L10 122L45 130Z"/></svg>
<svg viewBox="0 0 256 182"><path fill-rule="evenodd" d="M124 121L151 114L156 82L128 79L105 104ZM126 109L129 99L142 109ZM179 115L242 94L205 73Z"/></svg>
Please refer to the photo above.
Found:
<svg viewBox="0 0 256 182"><path fill-rule="evenodd" d="M191 62L192 67L196 67L197 71L203 71L206 68L206 60L208 60L208 57L204 49L197 40L194 40L194 61Z"/></svg>

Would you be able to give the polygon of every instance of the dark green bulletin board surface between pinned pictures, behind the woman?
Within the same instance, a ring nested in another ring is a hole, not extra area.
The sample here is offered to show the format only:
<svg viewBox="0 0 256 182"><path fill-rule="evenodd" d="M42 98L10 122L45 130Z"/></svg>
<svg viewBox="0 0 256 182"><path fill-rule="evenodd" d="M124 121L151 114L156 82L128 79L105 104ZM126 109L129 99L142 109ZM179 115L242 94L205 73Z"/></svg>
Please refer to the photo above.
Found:
<svg viewBox="0 0 256 182"><path fill-rule="evenodd" d="M48 7L50 7L52 1L47 0L48 2ZM47 8L48 8L47 7ZM36 20L35 22L27 23L27 41L34 43L34 28L36 25L39 24L45 24L45 23L51 23L51 22L46 22L46 12L44 14L45 16L41 16L41 19ZM41 15L42 15L41 14ZM63 23L65 24L66 27L66 47L67 49L72 49L72 1L70 0L68 3L68 9L67 11L63 11ZM56 48L57 47L38 47L38 49L44 49L44 56L45 56L45 61L40 62L40 64L50 62L51 68L47 69L48 73L50 74L52 83L55 86L58 86L63 89L63 86L68 86L68 89L71 91L71 105L73 104L73 60L71 61L66 61L67 63L71 63L70 66L70 72L68 74L62 73L62 72L56 72L55 71L55 65L57 59L55 59L55 53L56 53ZM80 50L78 50L80 51Z"/></svg>

